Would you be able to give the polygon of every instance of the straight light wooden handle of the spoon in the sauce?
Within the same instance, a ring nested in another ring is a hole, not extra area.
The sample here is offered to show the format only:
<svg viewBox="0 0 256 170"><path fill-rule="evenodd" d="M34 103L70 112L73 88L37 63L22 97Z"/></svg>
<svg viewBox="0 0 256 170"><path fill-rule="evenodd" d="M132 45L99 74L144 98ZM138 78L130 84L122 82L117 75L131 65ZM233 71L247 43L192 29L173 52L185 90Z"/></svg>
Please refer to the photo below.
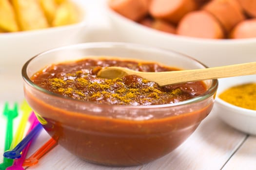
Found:
<svg viewBox="0 0 256 170"><path fill-rule="evenodd" d="M157 72L147 74L151 80L156 80L159 85L169 85L176 83L256 74L256 62L221 66L215 68ZM145 75L141 74L141 76L147 79Z"/></svg>

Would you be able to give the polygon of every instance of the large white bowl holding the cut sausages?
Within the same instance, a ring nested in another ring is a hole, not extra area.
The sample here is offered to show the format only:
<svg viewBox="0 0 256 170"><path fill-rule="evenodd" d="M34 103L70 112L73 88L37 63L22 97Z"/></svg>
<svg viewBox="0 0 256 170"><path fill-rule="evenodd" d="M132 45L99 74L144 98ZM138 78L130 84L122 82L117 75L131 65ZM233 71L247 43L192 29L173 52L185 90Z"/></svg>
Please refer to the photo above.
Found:
<svg viewBox="0 0 256 170"><path fill-rule="evenodd" d="M106 14L112 21L119 41L142 43L187 54L208 67L256 61L256 38L202 39L169 34L148 28L112 10L105 3Z"/></svg>

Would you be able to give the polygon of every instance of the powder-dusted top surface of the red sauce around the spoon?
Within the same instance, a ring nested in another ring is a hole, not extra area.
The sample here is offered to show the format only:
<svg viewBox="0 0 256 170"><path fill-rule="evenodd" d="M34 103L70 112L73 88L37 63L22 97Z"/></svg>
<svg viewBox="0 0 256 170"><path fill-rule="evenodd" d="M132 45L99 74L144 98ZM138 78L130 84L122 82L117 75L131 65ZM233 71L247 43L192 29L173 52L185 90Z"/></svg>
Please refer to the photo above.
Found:
<svg viewBox="0 0 256 170"><path fill-rule="evenodd" d="M108 80L97 77L101 68L119 66L138 71L178 70L153 62L83 59L51 65L32 77L40 87L64 97L118 105L156 105L185 101L206 91L203 82L159 86L136 75Z"/></svg>

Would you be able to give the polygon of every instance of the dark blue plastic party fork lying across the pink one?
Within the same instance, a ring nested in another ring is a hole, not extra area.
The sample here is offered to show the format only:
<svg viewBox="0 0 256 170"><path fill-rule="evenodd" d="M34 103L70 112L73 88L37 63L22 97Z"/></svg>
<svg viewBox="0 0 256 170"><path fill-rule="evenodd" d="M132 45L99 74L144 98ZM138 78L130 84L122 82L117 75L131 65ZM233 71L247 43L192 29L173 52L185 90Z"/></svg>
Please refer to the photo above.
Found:
<svg viewBox="0 0 256 170"><path fill-rule="evenodd" d="M21 156L21 151L28 145L28 143L39 134L42 129L41 124L37 124L34 129L32 129L27 136L25 136L20 143L11 151L6 151L3 156L9 159L17 159Z"/></svg>

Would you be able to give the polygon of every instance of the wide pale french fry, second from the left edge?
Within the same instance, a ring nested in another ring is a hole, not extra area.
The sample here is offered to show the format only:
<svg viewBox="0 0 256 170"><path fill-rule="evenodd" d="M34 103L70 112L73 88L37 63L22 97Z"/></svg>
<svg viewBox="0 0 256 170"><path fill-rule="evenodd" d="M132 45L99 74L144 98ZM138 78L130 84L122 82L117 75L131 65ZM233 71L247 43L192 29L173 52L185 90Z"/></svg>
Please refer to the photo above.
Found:
<svg viewBox="0 0 256 170"><path fill-rule="evenodd" d="M49 27L38 0L12 0L22 31Z"/></svg>

